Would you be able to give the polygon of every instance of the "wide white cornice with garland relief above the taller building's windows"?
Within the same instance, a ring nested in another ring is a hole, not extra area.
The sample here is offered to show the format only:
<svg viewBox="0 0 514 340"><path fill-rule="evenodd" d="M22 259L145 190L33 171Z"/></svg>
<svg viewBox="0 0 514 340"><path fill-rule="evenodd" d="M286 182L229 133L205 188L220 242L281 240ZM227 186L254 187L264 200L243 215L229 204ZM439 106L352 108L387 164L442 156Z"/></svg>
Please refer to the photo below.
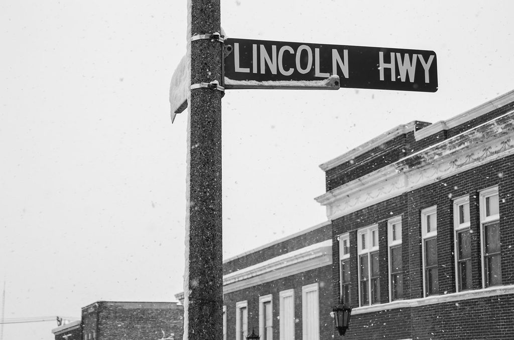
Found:
<svg viewBox="0 0 514 340"><path fill-rule="evenodd" d="M316 198L336 219L514 154L514 110Z"/></svg>

